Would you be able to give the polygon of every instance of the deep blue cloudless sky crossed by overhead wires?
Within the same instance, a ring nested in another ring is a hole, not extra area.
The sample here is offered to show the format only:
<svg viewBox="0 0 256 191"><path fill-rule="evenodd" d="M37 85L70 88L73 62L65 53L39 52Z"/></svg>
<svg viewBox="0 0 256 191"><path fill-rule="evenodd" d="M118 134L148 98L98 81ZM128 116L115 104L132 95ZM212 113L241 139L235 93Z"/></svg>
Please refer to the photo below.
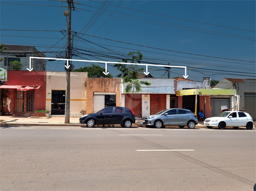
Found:
<svg viewBox="0 0 256 191"><path fill-rule="evenodd" d="M143 63L187 67L188 79L199 82L203 77L255 78L255 1L79 3L72 11L74 59L119 62L128 52L139 50ZM0 43L35 46L47 57L65 56L67 5L1 1ZM64 61L47 62L46 70L64 71ZM111 64L108 71L119 74ZM148 71L154 77L168 77L163 67ZM170 69L170 78L183 75L184 69Z"/></svg>

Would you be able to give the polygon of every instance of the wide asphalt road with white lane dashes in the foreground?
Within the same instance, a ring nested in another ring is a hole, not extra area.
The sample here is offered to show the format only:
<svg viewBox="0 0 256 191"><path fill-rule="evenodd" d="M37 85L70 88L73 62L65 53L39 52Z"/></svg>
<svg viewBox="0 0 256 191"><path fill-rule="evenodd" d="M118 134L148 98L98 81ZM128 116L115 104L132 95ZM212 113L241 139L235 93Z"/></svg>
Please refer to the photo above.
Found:
<svg viewBox="0 0 256 191"><path fill-rule="evenodd" d="M253 190L255 130L1 127L1 190Z"/></svg>

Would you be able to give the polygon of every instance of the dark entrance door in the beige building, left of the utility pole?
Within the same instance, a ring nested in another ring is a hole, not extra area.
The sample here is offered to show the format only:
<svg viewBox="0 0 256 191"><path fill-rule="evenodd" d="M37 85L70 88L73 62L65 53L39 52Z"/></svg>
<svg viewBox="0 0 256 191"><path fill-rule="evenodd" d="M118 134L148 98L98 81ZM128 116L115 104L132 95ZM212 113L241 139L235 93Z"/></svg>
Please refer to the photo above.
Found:
<svg viewBox="0 0 256 191"><path fill-rule="evenodd" d="M52 90L51 115L65 115L65 90Z"/></svg>

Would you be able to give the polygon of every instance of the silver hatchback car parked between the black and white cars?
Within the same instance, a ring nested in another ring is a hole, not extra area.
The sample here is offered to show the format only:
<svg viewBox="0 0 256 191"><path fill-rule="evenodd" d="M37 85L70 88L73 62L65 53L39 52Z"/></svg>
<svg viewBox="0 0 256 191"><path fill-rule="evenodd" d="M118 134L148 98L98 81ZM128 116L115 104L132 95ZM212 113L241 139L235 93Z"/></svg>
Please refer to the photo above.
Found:
<svg viewBox="0 0 256 191"><path fill-rule="evenodd" d="M164 126L179 126L193 129L198 124L197 117L188 109L165 109L155 115L144 117L143 124L162 128Z"/></svg>

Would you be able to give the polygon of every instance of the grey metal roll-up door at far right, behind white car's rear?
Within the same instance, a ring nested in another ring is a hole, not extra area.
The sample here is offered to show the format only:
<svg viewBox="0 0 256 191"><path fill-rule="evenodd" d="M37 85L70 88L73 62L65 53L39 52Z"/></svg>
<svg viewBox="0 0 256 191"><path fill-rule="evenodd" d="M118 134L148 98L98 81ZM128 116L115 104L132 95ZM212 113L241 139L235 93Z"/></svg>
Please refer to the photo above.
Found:
<svg viewBox="0 0 256 191"><path fill-rule="evenodd" d="M256 120L255 99L256 99L256 93L245 93L245 111L251 115L253 121Z"/></svg>

